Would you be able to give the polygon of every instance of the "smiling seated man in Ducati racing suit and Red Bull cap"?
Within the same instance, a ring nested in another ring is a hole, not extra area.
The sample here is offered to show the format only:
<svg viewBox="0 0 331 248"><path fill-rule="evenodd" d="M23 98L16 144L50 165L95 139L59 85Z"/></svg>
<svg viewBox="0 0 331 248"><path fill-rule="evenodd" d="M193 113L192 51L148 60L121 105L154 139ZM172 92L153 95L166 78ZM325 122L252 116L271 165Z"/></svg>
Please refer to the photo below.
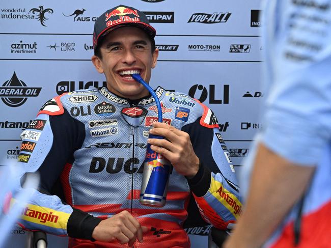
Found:
<svg viewBox="0 0 331 248"><path fill-rule="evenodd" d="M228 229L236 222L237 180L214 114L158 87L164 118L156 123L155 100L131 77L149 82L158 57L155 34L132 7L97 19L92 62L107 87L49 100L24 131L22 142L34 148L21 150L19 164L41 182L22 226L68 235L70 247L169 248L190 247L183 223L197 205L194 225ZM149 132L166 139L147 139ZM139 202L147 143L173 165L162 208Z"/></svg>

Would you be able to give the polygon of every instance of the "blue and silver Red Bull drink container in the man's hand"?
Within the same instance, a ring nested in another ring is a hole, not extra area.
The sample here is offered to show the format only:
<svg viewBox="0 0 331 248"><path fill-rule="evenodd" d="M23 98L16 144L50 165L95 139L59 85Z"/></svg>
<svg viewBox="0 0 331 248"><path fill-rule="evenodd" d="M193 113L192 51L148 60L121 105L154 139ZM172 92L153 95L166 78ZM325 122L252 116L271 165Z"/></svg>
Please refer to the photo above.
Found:
<svg viewBox="0 0 331 248"><path fill-rule="evenodd" d="M164 139L162 136L149 134L150 139ZM146 158L140 203L147 206L163 207L167 200L167 188L171 171L170 161L161 154L154 152L147 144Z"/></svg>

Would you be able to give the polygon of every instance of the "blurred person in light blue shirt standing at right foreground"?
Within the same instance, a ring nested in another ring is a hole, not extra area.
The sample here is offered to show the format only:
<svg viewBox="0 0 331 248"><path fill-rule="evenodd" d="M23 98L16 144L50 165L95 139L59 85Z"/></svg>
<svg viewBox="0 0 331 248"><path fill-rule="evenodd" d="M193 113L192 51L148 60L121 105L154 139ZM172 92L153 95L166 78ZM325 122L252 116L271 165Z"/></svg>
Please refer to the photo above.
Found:
<svg viewBox="0 0 331 248"><path fill-rule="evenodd" d="M243 214L223 247L330 247L331 1L264 7L263 130L243 168Z"/></svg>

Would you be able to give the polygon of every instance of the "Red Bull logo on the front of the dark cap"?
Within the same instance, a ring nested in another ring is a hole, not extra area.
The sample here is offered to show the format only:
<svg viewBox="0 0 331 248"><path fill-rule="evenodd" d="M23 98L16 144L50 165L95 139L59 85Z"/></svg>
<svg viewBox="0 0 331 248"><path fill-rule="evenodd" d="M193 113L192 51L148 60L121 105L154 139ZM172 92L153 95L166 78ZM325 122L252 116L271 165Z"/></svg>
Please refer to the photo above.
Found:
<svg viewBox="0 0 331 248"><path fill-rule="evenodd" d="M133 18L127 15L134 15ZM106 19L105 21L107 22L106 25L112 26L114 24L120 23L120 22L126 22L126 21L140 21L140 16L138 14L137 10L132 10L126 7L118 7L117 9L113 10L110 13L105 14ZM119 18L116 20L109 20L113 19L112 17L118 16Z"/></svg>

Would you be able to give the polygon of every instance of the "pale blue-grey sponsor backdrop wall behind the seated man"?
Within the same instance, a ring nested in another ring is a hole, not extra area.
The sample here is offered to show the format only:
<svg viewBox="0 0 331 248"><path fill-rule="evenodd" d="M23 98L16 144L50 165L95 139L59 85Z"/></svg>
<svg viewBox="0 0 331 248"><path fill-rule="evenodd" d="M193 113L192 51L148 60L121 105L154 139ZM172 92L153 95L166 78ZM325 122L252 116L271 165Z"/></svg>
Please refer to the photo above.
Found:
<svg viewBox="0 0 331 248"><path fill-rule="evenodd" d="M150 85L180 91L217 116L233 164L240 171L261 128L258 108L261 0L3 1L0 6L0 164L17 160L20 134L41 106L64 92L105 85L94 69L96 17L119 4L145 12L157 31L158 63ZM192 247L206 247L210 226L187 229ZM22 247L13 229L6 247ZM67 245L49 236L48 247Z"/></svg>

